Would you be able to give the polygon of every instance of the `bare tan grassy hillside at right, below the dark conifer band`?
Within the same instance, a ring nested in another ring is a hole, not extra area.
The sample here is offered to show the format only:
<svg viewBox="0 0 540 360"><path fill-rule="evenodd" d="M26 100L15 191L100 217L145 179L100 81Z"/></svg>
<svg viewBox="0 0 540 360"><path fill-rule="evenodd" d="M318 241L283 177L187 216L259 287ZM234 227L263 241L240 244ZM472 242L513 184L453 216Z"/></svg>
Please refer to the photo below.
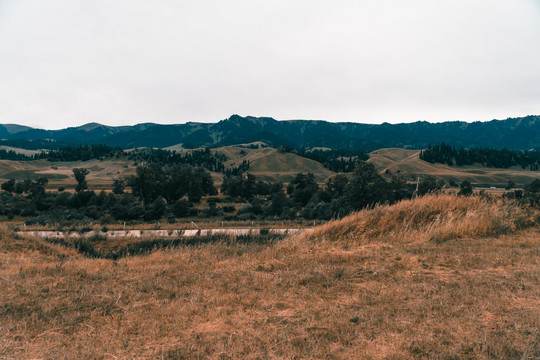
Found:
<svg viewBox="0 0 540 360"><path fill-rule="evenodd" d="M520 167L509 169L493 169L482 166L448 166L444 164L431 164L420 160L420 150L380 149L370 153L369 162L384 174L386 170L391 173L400 173L406 178L431 175L445 181L454 180L462 182L468 180L473 184L489 186L504 186L512 179L516 184L523 186L540 178L540 172L523 170Z"/></svg>

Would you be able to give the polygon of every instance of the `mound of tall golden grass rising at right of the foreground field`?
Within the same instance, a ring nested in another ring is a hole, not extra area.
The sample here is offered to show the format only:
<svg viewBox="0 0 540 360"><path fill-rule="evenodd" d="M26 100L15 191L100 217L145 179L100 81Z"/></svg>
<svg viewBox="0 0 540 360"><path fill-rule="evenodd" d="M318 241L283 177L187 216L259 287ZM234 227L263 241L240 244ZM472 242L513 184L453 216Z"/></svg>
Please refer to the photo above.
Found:
<svg viewBox="0 0 540 360"><path fill-rule="evenodd" d="M481 196L427 195L376 206L317 228L309 236L346 243L443 242L497 236L534 226L537 211Z"/></svg>

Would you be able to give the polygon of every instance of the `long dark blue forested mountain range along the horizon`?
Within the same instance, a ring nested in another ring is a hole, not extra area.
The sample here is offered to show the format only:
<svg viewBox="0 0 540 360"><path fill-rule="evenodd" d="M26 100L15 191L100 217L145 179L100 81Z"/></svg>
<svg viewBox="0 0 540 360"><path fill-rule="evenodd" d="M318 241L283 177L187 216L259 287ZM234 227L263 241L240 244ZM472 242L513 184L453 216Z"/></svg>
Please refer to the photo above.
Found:
<svg viewBox="0 0 540 360"><path fill-rule="evenodd" d="M373 151L381 148L421 149L445 142L457 147L490 147L514 150L540 148L540 116L487 122L461 121L408 124L331 123L321 120L277 121L269 117L233 115L217 123L188 122L106 126L90 123L62 130L0 125L6 140L50 139L65 145L103 143L134 147L218 147L257 141L271 146L328 147Z"/></svg>

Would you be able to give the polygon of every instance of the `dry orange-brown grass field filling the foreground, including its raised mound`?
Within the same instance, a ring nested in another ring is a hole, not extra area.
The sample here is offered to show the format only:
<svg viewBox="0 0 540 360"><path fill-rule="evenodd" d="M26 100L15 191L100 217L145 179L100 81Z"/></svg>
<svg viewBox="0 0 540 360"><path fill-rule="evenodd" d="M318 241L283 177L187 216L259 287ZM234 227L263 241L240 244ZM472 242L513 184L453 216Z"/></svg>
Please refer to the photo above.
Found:
<svg viewBox="0 0 540 360"><path fill-rule="evenodd" d="M439 195L116 261L0 233L2 359L538 359L539 214Z"/></svg>

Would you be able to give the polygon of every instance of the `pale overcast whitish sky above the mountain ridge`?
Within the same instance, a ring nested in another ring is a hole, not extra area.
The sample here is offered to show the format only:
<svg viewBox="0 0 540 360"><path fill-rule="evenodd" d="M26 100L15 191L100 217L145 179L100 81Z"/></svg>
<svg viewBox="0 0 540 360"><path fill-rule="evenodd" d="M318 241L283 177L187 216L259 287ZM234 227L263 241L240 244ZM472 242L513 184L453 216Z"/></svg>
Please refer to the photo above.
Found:
<svg viewBox="0 0 540 360"><path fill-rule="evenodd" d="M0 123L540 114L540 0L0 0Z"/></svg>

